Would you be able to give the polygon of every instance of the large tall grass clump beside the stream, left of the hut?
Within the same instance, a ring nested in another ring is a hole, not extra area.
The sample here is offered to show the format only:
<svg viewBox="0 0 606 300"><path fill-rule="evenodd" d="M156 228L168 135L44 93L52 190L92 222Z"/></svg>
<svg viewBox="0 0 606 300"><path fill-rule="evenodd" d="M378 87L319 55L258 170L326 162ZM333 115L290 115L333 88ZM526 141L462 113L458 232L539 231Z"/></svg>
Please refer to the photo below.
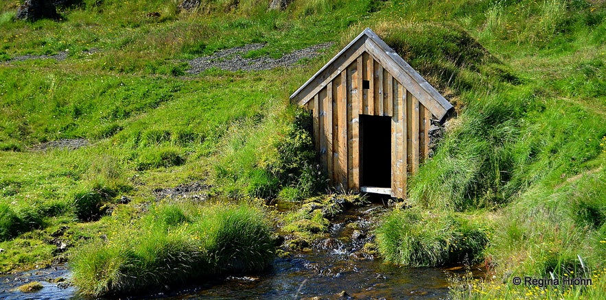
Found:
<svg viewBox="0 0 606 300"><path fill-rule="evenodd" d="M139 221L114 227L108 240L75 251L73 282L84 295L149 293L200 277L261 271L274 242L254 205L154 205Z"/></svg>

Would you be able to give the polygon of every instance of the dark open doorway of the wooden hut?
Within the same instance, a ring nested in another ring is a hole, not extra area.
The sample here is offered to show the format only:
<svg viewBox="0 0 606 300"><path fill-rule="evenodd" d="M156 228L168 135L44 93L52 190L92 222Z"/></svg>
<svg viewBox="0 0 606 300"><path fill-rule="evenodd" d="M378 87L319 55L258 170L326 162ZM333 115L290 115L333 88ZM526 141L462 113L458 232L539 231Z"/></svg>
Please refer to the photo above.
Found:
<svg viewBox="0 0 606 300"><path fill-rule="evenodd" d="M391 117L360 115L361 186L391 188Z"/></svg>

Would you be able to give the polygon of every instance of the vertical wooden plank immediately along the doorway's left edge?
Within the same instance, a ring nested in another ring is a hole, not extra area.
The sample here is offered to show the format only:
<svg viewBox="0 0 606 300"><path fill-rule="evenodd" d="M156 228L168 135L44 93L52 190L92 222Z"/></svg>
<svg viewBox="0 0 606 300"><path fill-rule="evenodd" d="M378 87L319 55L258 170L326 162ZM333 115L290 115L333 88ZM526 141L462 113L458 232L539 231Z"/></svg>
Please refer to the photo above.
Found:
<svg viewBox="0 0 606 300"><path fill-rule="evenodd" d="M362 99L362 58L358 58L356 70L351 75L351 145L349 146L348 159L351 161L351 172L349 172L349 189L359 191L360 190L360 108L362 107L362 101L356 101ZM354 94L353 91L357 93Z"/></svg>

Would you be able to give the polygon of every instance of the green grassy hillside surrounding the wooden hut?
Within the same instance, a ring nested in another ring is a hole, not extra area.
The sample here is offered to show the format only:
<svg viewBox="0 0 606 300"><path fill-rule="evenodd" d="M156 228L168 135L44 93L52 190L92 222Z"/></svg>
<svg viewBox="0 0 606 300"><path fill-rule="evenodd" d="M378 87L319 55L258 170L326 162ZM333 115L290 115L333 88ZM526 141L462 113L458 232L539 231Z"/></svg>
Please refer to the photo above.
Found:
<svg viewBox="0 0 606 300"><path fill-rule="evenodd" d="M65 260L52 234L67 225L74 248L98 240L147 214L157 188L204 182L212 195L291 200L324 191L288 96L371 27L457 110L412 179L413 208L377 229L384 258L482 261L494 277L469 282L480 298L525 297L513 276L595 275L594 289L549 291L591 297L606 282L606 4L434 2L295 0L276 11L216 0L178 12L176 1L85 0L60 21L28 23L4 1L0 271ZM220 49L266 43L245 56L279 58L321 42L334 46L293 68L187 73L187 59ZM12 60L58 53L67 58ZM30 150L63 138L91 145Z"/></svg>

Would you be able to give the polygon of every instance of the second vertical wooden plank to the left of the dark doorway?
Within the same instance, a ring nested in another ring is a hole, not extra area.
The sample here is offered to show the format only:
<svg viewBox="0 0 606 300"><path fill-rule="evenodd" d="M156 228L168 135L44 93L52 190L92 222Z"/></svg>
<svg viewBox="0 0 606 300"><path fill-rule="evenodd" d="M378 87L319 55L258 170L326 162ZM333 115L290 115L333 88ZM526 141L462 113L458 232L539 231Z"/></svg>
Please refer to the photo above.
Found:
<svg viewBox="0 0 606 300"><path fill-rule="evenodd" d="M339 183L347 191L347 68L341 72L339 88Z"/></svg>

